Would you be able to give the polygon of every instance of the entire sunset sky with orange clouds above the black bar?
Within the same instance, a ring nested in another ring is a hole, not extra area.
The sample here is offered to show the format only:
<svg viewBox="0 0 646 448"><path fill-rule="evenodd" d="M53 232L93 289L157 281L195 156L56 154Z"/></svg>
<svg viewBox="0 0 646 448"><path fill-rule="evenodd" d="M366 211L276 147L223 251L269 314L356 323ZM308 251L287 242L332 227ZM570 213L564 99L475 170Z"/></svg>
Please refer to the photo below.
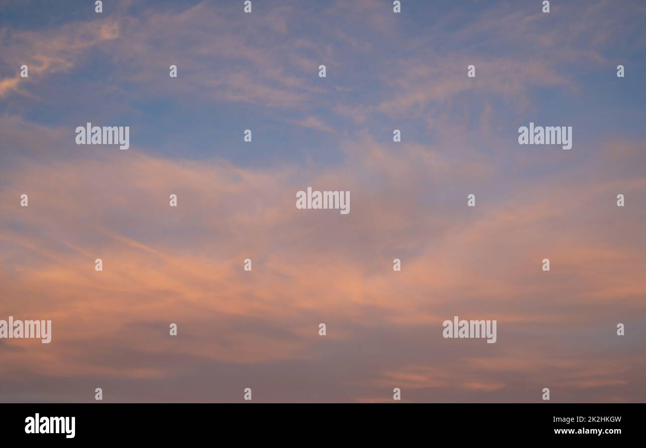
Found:
<svg viewBox="0 0 646 448"><path fill-rule="evenodd" d="M0 1L0 402L646 401L646 5L550 3Z"/></svg>

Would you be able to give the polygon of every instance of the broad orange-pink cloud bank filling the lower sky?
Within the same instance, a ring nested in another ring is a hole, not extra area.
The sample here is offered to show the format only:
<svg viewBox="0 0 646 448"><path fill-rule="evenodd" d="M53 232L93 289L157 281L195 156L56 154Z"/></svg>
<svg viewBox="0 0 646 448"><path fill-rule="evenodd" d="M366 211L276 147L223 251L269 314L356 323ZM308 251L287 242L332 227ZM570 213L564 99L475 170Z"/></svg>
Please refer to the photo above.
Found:
<svg viewBox="0 0 646 448"><path fill-rule="evenodd" d="M564 400L579 399L570 387L576 382L575 391L593 391L591 400L634 399L626 391L643 365L639 356L613 355L621 372L583 378L590 366L614 361L597 353L572 364L568 349L528 343L548 344L563 331L599 338L614 332L616 320L632 327L643 314L640 220L630 214L625 239L597 238L611 229L614 176L596 183L595 163L576 183L555 178L540 194L531 181L496 203L477 192L481 202L471 212L451 205L452 192L455 201L466 200L460 185L469 170L420 145L398 148L364 137L346 148L343 165L307 170L151 158L136 147L87 154L74 165L54 157L16 163L3 174L2 194L28 191L30 206L17 199L0 206L7 285L0 310L51 316L55 340L48 347L19 341L6 352L3 377L13 396L33 387L38 380L26 372L45 362L50 382L62 385L72 374L81 383L119 383L123 391L141 381L171 385L200 365L240 374L271 365L288 374L327 360L346 366L339 383L315 376L293 389L370 401L397 385L406 400L505 401L531 400L529 389L550 381L570 390ZM599 163L617 151L600 153ZM351 176L357 172L362 179ZM492 172L481 183L495 178ZM295 192L307 185L348 189L351 214L297 210ZM449 198L435 190L439 185ZM636 175L634 192L645 187ZM555 203L563 191L577 200ZM177 209L168 205L171 193L178 194ZM605 196L607 207L600 205ZM554 267L548 280L540 269L545 256ZM94 271L95 258L103 272ZM245 258L253 260L252 272L242 269ZM393 272L393 258L401 258L402 272ZM505 336L494 358L475 344L459 348L440 338L441 322L453 315L497 319ZM167 336L170 322L180 329L176 342ZM318 339L320 322L328 325L326 344L346 350L329 352ZM363 367L347 358L357 343L367 353ZM443 365L420 363L422 347L442 356ZM523 373L497 366L497 358L534 367ZM483 365L474 371L474 362ZM550 372L547 380L536 369ZM255 382L282 387L271 375ZM186 389L178 399L202 400L196 392ZM79 392L70 397L83 400Z"/></svg>

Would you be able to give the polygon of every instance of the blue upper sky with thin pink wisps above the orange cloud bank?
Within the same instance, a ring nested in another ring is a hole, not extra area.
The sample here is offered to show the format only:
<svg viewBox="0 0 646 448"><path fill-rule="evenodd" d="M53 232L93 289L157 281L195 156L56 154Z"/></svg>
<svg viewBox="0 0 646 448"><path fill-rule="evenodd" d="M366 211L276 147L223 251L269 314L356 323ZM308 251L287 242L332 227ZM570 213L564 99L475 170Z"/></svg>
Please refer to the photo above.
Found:
<svg viewBox="0 0 646 448"><path fill-rule="evenodd" d="M488 143L497 147L512 147L517 127L532 119L574 125L579 144L614 132L643 137L645 98L639 87L646 67L639 43L644 39L640 16L630 14L628 5L585 2L554 2L552 12L542 14L534 3L408 2L401 15L384 17L380 8L390 10L385 1L262 2L255 5L258 14L247 18L239 5L222 2L107 2L99 15L83 1L65 7L10 1L0 19L6 43L18 46L16 35L21 32L37 29L52 34L78 21L95 26L112 23L123 36L114 39L117 42L110 39L79 51L62 51L74 57L74 68L55 70L47 81L39 80L33 98L23 96L11 106L3 101L3 112L17 112L48 126L72 126L87 117L123 121L131 126L140 150L151 154L216 156L256 167L281 161L304 163L308 158L340 163L342 139L368 132L377 141L388 141L393 128L403 130L407 141L442 144L441 129L435 127L449 122L481 141L485 107L490 108L495 127ZM203 15L195 32L180 27L158 30L163 26L158 23L182 13ZM209 23L225 15L235 15L236 20ZM528 25L517 24L521 20ZM287 23L288 32L276 28ZM599 45L592 46L597 26L609 35L597 36ZM137 31L147 27L154 30L151 34L161 33L161 38L154 34L141 39ZM83 34L78 36L81 39ZM231 36L240 42L238 54L224 48L200 56L204 45L225 46L222 37ZM548 45L536 43L541 37ZM192 46L197 39L199 45ZM141 48L120 54L119 48L129 46L128 41L136 41L132 47ZM300 48L293 48L293 41ZM168 43L171 48L165 48ZM253 53L256 48L262 54ZM138 55L140 50L145 54ZM298 58L311 67L295 67L293 61ZM175 59L186 62L182 65ZM497 61L499 68L495 68ZM4 76L16 73L10 62L3 60ZM161 76L171 63L179 65L178 79ZM317 77L319 63L328 66L326 79ZM462 79L467 63L477 66L476 79ZM627 66L629 74L620 81L615 75L617 63ZM487 64L494 66L488 70ZM137 79L142 68L146 79ZM272 73L264 77L262 70ZM222 73L244 73L249 83L257 83L259 89L275 88L273 94L284 97L276 101L268 90L265 97L256 99L242 94L234 101L209 101L213 92L217 96L231 87L227 81L220 83ZM274 79L281 73L293 80ZM528 76L532 73L536 76ZM429 83L442 85L456 78L473 81L472 87L456 86L453 92L428 97L422 94L419 103L388 111L389 101L414 96L415 85L423 91ZM205 82L200 85L200 81ZM178 88L183 83L191 85ZM508 94L504 83L510 85ZM67 107L61 110L62 102ZM340 108L364 114L366 119L357 123ZM304 117L316 117L333 132L293 124ZM245 128L257 136L253 157L241 146Z"/></svg>

